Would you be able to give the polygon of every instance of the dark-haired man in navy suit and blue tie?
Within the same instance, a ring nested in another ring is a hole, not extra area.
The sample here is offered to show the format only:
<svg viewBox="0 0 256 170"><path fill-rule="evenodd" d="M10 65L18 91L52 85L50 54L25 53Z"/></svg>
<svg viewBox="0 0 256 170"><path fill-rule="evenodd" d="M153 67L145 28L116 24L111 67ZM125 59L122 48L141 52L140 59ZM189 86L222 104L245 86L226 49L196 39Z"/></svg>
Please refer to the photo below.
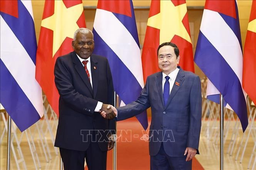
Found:
<svg viewBox="0 0 256 170"><path fill-rule="evenodd" d="M151 170L191 170L192 158L199 154L201 81L196 74L177 66L180 56L175 44L162 43L157 56L161 72L148 76L135 102L117 108L117 120L128 119L151 107ZM105 112L101 114L109 119Z"/></svg>

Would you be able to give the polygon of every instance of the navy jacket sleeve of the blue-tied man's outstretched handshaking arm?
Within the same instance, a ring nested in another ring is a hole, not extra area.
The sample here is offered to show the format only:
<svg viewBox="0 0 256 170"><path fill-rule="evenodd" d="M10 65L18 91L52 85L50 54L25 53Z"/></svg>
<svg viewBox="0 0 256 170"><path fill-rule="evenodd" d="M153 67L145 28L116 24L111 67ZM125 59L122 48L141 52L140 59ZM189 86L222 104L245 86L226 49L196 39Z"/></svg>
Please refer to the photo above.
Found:
<svg viewBox="0 0 256 170"><path fill-rule="evenodd" d="M147 78L145 87L142 89L141 95L138 97L138 99L123 107L117 108L117 121L129 119L141 114L149 107L149 78Z"/></svg>

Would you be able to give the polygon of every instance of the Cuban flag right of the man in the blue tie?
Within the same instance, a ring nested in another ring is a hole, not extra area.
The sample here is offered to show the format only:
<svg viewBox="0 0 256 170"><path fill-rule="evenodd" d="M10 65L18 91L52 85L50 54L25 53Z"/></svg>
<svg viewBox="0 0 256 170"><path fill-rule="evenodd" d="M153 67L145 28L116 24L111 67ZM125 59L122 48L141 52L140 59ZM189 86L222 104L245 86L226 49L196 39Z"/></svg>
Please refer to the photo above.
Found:
<svg viewBox="0 0 256 170"><path fill-rule="evenodd" d="M206 0L197 40L195 63L208 78L207 98L238 115L243 131L248 125L246 94L242 88L243 53L235 0Z"/></svg>

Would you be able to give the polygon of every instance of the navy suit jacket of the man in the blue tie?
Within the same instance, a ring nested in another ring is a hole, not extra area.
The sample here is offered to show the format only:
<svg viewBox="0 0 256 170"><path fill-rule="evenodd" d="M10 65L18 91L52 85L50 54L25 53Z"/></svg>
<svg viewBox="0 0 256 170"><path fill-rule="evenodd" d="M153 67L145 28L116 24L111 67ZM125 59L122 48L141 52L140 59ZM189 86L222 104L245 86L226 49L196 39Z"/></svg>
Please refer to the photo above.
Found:
<svg viewBox="0 0 256 170"><path fill-rule="evenodd" d="M183 157L186 147L197 149L201 130L202 97L201 81L196 74L182 70L172 87L164 107L162 72L148 76L139 98L124 107L117 108L117 120L140 114L151 107L152 119L149 131L149 153L158 153L161 142L171 157Z"/></svg>

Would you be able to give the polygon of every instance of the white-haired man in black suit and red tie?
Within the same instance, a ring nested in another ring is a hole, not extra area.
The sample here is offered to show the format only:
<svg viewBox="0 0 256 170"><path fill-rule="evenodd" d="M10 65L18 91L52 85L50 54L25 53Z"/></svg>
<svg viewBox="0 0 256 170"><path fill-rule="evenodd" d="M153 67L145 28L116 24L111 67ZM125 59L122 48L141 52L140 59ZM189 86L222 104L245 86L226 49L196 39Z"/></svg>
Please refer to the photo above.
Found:
<svg viewBox="0 0 256 170"><path fill-rule="evenodd" d="M54 75L59 91L59 124L55 147L60 148L65 170L105 170L107 150L114 147L108 137L115 121L104 119L114 104L114 87L106 58L92 54L93 33L80 28L74 33L73 52L56 60ZM111 137L110 137L111 138Z"/></svg>

